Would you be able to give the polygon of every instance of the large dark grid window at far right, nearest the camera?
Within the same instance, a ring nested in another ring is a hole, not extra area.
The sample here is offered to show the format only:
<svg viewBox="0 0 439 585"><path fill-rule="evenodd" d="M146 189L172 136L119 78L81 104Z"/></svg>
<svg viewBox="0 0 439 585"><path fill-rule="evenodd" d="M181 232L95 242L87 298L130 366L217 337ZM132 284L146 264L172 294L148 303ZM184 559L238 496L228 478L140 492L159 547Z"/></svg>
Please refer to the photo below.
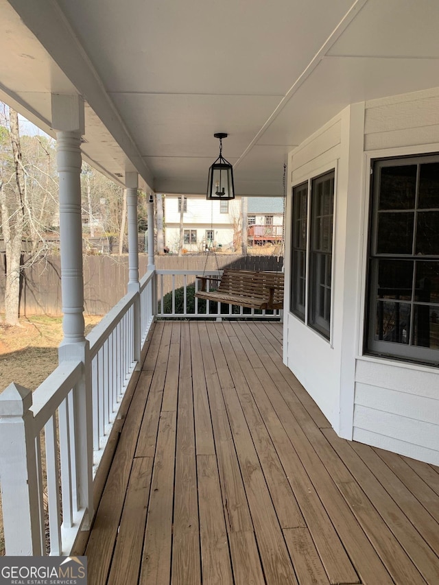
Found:
<svg viewBox="0 0 439 585"><path fill-rule="evenodd" d="M366 353L439 365L439 155L376 160Z"/></svg>

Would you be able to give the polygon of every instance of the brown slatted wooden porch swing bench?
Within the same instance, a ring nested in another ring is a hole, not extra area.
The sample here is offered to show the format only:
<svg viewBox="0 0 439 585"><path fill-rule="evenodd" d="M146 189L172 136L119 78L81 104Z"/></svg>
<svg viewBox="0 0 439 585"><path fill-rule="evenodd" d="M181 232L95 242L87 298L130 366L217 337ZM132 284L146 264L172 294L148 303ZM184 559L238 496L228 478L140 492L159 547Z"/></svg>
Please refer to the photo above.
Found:
<svg viewBox="0 0 439 585"><path fill-rule="evenodd" d="M198 298L250 309L283 309L283 272L225 268L221 278L196 278L201 280L201 288L195 293ZM217 289L208 291L207 280L219 283Z"/></svg>

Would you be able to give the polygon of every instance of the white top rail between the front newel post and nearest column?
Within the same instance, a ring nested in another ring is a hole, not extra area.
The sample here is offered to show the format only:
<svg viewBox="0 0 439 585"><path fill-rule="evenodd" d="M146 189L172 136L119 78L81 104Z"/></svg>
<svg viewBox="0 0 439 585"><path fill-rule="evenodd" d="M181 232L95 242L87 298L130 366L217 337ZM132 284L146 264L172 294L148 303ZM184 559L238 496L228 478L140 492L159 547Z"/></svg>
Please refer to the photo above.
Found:
<svg viewBox="0 0 439 585"><path fill-rule="evenodd" d="M58 368L32 393L35 435L43 430L46 422L71 391L82 374L82 361L62 361Z"/></svg>

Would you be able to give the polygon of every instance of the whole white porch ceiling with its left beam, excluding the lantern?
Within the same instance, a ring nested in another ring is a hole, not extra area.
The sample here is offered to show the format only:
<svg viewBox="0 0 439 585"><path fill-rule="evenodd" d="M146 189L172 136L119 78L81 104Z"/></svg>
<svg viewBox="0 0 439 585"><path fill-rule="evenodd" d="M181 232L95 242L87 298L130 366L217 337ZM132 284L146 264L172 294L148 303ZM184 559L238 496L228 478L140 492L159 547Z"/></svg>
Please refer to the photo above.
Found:
<svg viewBox="0 0 439 585"><path fill-rule="evenodd" d="M237 193L281 195L287 152L346 105L439 86L431 0L0 0L0 15L0 98L53 133L50 93L80 93L88 161L165 193L204 191L222 131Z"/></svg>

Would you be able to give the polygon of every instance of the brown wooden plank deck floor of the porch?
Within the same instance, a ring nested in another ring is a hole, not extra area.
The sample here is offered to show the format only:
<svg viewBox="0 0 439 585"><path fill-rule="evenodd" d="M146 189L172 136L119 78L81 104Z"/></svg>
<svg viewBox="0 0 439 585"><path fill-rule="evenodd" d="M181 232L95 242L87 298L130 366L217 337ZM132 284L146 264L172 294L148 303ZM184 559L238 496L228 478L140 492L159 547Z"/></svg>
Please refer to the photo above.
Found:
<svg viewBox="0 0 439 585"><path fill-rule="evenodd" d="M439 468L337 438L281 337L267 322L156 324L89 584L439 584Z"/></svg>

